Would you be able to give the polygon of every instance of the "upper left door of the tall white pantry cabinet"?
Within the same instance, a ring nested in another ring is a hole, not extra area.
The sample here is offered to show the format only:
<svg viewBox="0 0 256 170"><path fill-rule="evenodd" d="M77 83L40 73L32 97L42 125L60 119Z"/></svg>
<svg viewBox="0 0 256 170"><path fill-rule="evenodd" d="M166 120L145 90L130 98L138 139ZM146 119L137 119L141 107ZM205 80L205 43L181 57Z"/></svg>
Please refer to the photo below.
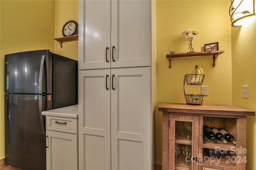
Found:
<svg viewBox="0 0 256 170"><path fill-rule="evenodd" d="M110 68L110 4L110 0L79 1L79 70Z"/></svg>

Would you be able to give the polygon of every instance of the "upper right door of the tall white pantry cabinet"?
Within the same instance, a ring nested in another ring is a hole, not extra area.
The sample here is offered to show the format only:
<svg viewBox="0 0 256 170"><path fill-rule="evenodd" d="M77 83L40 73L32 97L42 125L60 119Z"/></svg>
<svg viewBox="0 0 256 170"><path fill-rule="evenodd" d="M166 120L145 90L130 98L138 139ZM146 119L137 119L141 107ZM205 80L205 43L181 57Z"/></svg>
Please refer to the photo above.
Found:
<svg viewBox="0 0 256 170"><path fill-rule="evenodd" d="M150 66L150 30L149 0L112 0L111 68Z"/></svg>

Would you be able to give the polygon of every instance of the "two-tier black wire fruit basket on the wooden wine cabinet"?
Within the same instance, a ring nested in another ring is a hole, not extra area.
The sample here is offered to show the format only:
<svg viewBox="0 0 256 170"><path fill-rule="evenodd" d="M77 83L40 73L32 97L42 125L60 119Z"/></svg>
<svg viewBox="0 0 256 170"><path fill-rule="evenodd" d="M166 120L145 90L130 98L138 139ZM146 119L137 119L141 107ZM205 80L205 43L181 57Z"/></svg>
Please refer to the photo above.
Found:
<svg viewBox="0 0 256 170"><path fill-rule="evenodd" d="M188 85L202 85L204 81L204 74L186 74L184 77L184 96L186 103L189 105L202 105L204 102L204 95L201 94L186 94L185 82Z"/></svg>

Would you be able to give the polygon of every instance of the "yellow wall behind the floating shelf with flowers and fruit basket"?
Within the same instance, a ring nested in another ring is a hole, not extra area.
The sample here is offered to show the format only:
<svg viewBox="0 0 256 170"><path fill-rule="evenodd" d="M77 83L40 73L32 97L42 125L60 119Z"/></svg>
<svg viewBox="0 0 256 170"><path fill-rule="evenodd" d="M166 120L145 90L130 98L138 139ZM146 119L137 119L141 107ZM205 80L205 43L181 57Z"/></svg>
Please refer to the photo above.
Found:
<svg viewBox="0 0 256 170"><path fill-rule="evenodd" d="M231 24L229 0L157 0L157 104L186 103L183 92L185 74L192 74L198 65L204 69L203 85L208 86L205 104L232 104ZM225 50L212 67L212 56L173 58L168 68L168 47L177 53L188 51L188 40L181 36L185 29L200 31L194 40L195 51L204 51L204 44L219 42ZM186 86L188 93L200 94L200 86ZM186 91L186 93L187 93ZM162 164L162 112L156 120L156 163Z"/></svg>

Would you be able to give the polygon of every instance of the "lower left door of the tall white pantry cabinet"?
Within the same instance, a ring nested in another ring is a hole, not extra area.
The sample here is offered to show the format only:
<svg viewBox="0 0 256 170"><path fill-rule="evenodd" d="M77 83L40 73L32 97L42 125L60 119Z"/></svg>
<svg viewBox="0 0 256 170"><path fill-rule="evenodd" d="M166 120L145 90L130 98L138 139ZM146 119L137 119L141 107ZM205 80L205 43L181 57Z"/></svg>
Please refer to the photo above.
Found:
<svg viewBox="0 0 256 170"><path fill-rule="evenodd" d="M78 72L79 169L110 170L110 69Z"/></svg>

